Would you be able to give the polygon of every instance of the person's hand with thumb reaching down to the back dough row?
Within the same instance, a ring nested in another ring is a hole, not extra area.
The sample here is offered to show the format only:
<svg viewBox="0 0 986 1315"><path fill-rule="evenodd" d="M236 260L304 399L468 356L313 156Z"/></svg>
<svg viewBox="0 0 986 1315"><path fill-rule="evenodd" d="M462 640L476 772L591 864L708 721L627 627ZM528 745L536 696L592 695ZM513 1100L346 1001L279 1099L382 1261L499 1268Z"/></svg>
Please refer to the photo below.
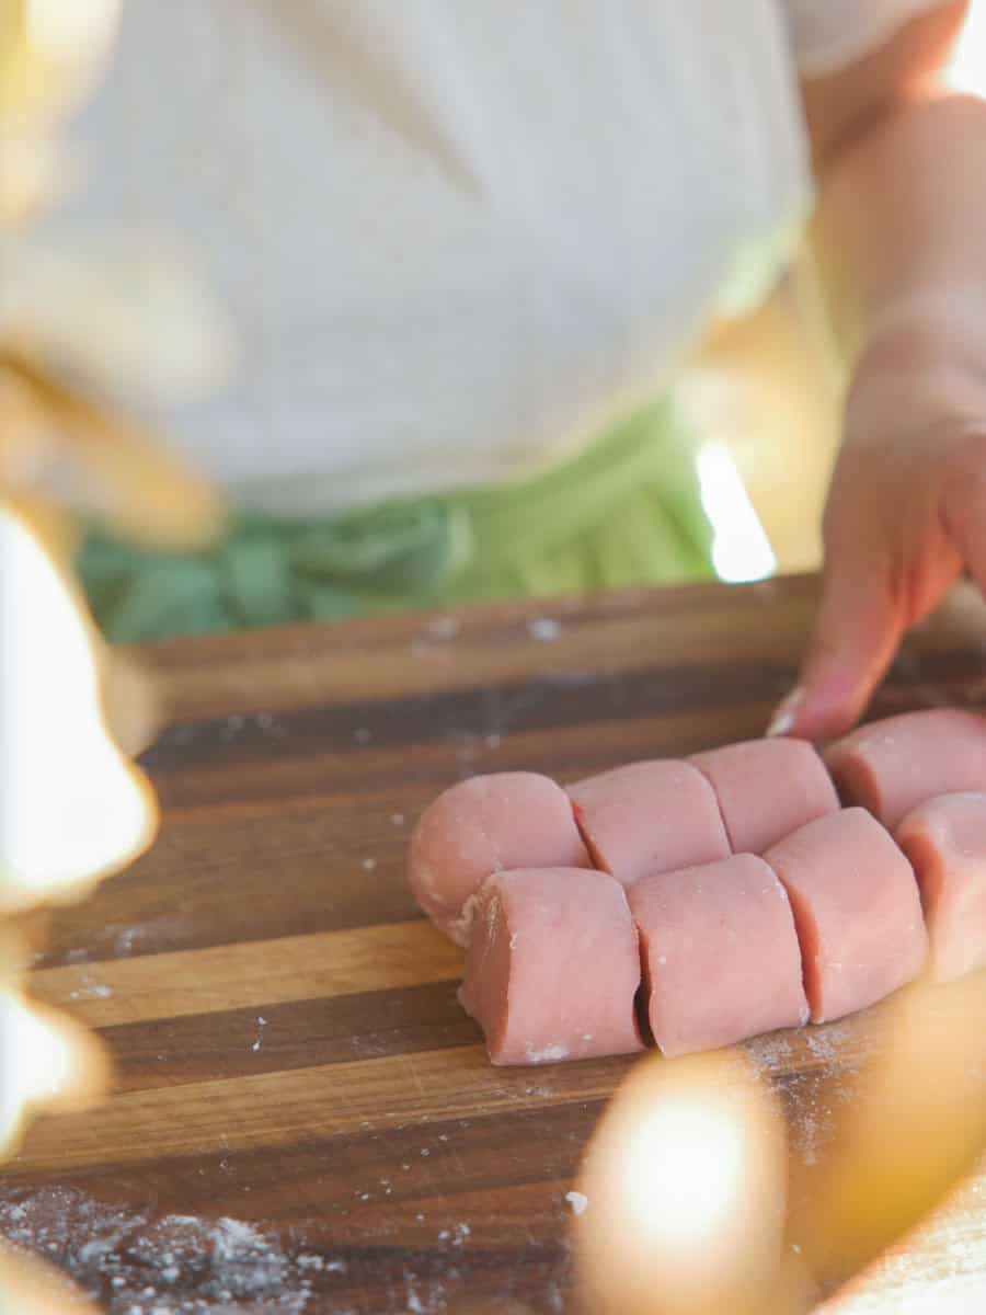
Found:
<svg viewBox="0 0 986 1315"><path fill-rule="evenodd" d="M860 360L826 506L822 602L768 734L844 732L962 568L986 590L986 317L975 327L922 316Z"/></svg>

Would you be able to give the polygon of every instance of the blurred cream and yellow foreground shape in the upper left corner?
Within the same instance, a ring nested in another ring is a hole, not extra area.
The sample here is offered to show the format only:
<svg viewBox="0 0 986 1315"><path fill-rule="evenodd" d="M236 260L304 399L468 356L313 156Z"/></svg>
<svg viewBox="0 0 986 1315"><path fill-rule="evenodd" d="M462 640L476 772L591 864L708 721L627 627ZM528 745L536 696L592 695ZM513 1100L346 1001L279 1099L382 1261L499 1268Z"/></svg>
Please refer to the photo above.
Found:
<svg viewBox="0 0 986 1315"><path fill-rule="evenodd" d="M101 76L120 12L120 0L0 4L0 494L197 547L218 530L220 500L120 400L213 387L230 360L225 321L174 254L49 250L12 231L74 181L55 134ZM59 558L68 538L63 519Z"/></svg>

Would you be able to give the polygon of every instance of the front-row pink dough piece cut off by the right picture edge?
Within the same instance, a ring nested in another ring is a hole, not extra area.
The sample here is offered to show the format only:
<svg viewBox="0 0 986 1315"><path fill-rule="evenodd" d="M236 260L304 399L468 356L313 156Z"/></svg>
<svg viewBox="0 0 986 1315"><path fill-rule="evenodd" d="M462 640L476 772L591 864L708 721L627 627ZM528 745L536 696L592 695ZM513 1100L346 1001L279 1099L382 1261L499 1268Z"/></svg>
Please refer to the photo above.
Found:
<svg viewBox="0 0 986 1315"><path fill-rule="evenodd" d="M986 967L986 794L945 794L897 828L920 888L929 976L953 981Z"/></svg>

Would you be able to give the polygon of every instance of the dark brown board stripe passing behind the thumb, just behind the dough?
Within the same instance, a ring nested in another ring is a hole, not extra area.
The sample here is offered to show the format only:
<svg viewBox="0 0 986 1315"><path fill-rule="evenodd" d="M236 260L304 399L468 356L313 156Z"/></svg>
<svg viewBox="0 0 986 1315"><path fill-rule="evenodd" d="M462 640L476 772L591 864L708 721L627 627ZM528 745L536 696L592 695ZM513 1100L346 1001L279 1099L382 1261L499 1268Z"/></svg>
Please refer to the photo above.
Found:
<svg viewBox="0 0 986 1315"><path fill-rule="evenodd" d="M870 718L915 705L912 660L907 654L898 659L869 710ZM920 676L936 701L983 702L978 651L926 655ZM164 806L175 807L230 798L245 802L294 797L300 784L302 796L381 790L397 781L406 786L409 767L411 780L435 784L450 756L484 759L518 735L578 726L582 735L590 736L597 727L714 715L743 706L766 713L794 677L793 665L770 661L677 664L594 675L559 669L550 676L477 689L175 725L141 761ZM920 702L920 686L916 693ZM270 723L268 715L273 718ZM408 750L415 752L411 763ZM394 757L393 751L402 752ZM256 768L263 771L259 794ZM222 777L218 793L217 773Z"/></svg>

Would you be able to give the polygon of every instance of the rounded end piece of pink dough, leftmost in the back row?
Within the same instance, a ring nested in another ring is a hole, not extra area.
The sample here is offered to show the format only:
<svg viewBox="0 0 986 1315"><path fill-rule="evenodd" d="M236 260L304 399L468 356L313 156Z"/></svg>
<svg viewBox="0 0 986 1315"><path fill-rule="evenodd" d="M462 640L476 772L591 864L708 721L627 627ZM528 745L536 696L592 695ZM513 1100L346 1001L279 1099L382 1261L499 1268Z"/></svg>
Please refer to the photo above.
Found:
<svg viewBox="0 0 986 1315"><path fill-rule="evenodd" d="M425 810L409 878L423 911L468 945L475 897L490 873L590 867L561 786L535 772L500 772L460 781Z"/></svg>

